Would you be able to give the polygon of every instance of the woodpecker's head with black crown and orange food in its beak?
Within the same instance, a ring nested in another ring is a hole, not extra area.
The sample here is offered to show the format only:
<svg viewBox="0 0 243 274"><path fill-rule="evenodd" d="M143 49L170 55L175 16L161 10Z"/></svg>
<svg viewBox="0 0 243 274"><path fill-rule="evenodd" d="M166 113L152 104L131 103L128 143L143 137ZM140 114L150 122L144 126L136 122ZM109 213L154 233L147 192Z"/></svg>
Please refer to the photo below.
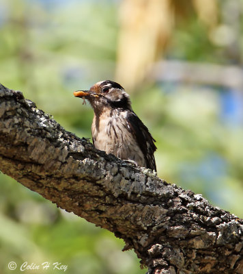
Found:
<svg viewBox="0 0 243 274"><path fill-rule="evenodd" d="M74 91L74 96L89 100L95 112L101 112L104 108L132 110L124 88L110 80L98 82L89 90Z"/></svg>

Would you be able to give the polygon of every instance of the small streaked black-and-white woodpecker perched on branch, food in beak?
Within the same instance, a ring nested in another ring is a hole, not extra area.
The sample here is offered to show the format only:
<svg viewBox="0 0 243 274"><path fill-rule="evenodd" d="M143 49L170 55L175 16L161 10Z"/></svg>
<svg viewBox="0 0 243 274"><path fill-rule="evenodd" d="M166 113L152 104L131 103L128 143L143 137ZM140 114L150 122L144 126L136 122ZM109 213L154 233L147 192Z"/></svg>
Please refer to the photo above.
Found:
<svg viewBox="0 0 243 274"><path fill-rule="evenodd" d="M94 109L91 132L97 149L156 171L156 140L132 110L130 97L120 84L101 81L89 90L74 91L74 96L87 99Z"/></svg>

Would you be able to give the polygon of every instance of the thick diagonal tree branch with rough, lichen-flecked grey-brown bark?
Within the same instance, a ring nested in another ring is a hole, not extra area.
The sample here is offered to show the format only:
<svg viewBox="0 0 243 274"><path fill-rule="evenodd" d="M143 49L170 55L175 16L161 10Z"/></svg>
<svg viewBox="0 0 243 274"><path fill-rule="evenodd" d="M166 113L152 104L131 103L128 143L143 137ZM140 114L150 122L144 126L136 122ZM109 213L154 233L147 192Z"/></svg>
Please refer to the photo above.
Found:
<svg viewBox="0 0 243 274"><path fill-rule="evenodd" d="M114 232L149 273L243 273L243 221L66 132L0 85L0 169Z"/></svg>

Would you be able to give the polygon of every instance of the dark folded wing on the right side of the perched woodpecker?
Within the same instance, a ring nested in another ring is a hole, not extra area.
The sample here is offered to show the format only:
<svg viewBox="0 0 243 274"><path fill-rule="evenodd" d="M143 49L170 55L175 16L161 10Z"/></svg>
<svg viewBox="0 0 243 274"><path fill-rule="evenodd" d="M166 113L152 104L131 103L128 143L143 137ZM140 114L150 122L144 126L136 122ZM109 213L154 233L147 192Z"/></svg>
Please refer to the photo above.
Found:
<svg viewBox="0 0 243 274"><path fill-rule="evenodd" d="M145 157L147 168L156 171L156 162L154 159L154 151L156 151L156 145L154 145L154 138L149 132L149 129L143 124L139 117L134 112L128 112L127 114L128 129L137 140L141 151Z"/></svg>

